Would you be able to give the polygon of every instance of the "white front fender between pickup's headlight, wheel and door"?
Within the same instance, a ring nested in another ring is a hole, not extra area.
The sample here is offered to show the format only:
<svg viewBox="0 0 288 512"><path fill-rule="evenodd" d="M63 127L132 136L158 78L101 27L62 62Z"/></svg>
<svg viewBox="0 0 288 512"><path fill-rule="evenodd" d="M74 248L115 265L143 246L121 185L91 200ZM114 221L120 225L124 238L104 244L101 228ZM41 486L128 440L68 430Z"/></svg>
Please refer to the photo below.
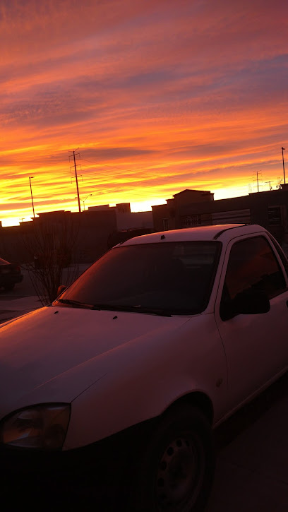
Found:
<svg viewBox="0 0 288 512"><path fill-rule="evenodd" d="M157 340L131 340L102 358L102 378L72 401L64 450L162 415L189 393L208 397L215 421L225 412L227 364L212 314L188 318Z"/></svg>

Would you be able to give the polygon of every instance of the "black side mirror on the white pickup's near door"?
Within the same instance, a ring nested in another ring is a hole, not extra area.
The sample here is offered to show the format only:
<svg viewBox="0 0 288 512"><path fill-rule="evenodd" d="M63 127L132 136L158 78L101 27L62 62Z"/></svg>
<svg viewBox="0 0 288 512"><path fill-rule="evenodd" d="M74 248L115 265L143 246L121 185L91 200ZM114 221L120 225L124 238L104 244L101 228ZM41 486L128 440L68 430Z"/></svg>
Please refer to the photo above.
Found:
<svg viewBox="0 0 288 512"><path fill-rule="evenodd" d="M246 290L236 294L234 299L224 302L221 307L222 320L237 315L257 315L270 311L270 301L263 290Z"/></svg>

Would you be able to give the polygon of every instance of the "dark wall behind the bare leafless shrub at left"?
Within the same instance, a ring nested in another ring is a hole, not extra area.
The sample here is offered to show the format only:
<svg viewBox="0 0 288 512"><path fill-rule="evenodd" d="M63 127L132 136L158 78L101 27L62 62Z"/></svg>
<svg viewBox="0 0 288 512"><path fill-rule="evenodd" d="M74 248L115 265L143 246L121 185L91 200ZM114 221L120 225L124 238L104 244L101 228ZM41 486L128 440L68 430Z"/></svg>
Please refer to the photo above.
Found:
<svg viewBox="0 0 288 512"><path fill-rule="evenodd" d="M31 222L0 227L0 257L17 263L31 262L41 256L42 241L49 239L52 249L63 251L67 246L76 263L92 263L107 251L109 235L114 231L114 209L41 213Z"/></svg>

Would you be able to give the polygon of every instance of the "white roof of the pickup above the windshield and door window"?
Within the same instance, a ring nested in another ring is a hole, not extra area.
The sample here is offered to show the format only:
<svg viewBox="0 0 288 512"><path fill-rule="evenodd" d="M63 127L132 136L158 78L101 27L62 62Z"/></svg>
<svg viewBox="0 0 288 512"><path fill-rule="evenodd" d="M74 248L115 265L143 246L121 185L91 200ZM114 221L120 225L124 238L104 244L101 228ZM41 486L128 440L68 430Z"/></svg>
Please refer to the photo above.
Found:
<svg viewBox="0 0 288 512"><path fill-rule="evenodd" d="M219 224L211 226L186 227L181 230L162 231L157 233L143 234L134 237L122 244L155 244L157 242L184 242L184 241L209 241L221 240L227 242L229 239L256 232L265 232L264 227L257 224Z"/></svg>

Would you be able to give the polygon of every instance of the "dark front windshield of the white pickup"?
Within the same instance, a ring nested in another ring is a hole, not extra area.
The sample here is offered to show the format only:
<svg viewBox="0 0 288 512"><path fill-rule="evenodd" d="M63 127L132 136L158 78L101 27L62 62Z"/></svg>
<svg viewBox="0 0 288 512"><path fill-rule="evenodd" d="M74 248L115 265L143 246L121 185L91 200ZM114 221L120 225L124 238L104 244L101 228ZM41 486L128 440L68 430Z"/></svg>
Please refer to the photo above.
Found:
<svg viewBox="0 0 288 512"><path fill-rule="evenodd" d="M54 304L154 314L197 314L208 304L220 242L117 246Z"/></svg>

